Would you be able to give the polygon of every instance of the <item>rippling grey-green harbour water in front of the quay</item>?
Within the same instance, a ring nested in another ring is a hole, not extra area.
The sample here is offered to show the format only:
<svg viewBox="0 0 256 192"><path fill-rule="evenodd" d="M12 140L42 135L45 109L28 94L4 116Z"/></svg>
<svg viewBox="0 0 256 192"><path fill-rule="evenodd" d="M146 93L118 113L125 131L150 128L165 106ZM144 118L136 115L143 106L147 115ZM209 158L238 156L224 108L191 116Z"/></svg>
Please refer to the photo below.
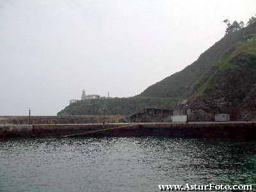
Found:
<svg viewBox="0 0 256 192"><path fill-rule="evenodd" d="M0 191L159 191L255 184L256 143L170 138L0 141Z"/></svg>

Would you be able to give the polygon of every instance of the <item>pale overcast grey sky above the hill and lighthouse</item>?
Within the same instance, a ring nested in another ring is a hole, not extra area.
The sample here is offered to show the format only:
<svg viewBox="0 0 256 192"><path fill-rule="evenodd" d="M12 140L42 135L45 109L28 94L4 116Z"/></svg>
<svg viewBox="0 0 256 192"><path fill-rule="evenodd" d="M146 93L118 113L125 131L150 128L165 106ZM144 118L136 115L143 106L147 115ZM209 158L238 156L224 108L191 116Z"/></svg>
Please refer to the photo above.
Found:
<svg viewBox="0 0 256 192"><path fill-rule="evenodd" d="M255 0L0 0L0 115L56 115L86 93L138 95L225 35Z"/></svg>

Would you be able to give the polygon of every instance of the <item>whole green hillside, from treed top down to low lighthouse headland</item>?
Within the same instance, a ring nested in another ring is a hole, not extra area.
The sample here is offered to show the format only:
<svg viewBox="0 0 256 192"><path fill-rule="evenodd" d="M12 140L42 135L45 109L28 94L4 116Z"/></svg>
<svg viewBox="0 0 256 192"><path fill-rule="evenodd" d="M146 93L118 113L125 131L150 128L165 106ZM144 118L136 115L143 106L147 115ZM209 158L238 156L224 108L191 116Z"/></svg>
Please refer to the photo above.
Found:
<svg viewBox="0 0 256 192"><path fill-rule="evenodd" d="M141 108L168 108L187 100L195 120L212 120L214 113L256 119L256 40L248 40L256 36L256 18L251 21L246 28L237 22L228 25L227 34L198 60L140 95L79 101L58 115L97 115L102 108L111 115L129 115Z"/></svg>

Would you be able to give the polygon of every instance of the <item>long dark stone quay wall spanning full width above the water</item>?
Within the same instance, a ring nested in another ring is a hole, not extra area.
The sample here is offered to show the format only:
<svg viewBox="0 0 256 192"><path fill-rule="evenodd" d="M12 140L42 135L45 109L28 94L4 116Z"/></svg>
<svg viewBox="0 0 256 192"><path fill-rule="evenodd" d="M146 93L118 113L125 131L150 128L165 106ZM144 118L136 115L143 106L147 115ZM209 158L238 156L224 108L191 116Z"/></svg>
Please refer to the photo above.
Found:
<svg viewBox="0 0 256 192"><path fill-rule="evenodd" d="M0 125L0 137L75 137L75 136L163 136L169 138L206 138L256 140L254 122L144 123L144 124L63 124Z"/></svg>

